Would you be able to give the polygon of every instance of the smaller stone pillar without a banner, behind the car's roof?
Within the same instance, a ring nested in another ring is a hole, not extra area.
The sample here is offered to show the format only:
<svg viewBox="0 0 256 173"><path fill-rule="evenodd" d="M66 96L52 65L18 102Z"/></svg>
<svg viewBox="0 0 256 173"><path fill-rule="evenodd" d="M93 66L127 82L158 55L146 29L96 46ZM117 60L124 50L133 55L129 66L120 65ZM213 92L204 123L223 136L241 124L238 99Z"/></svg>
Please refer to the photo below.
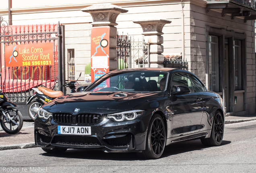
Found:
<svg viewBox="0 0 256 173"><path fill-rule="evenodd" d="M149 44L149 67L163 67L161 64L164 60L163 55L163 26L171 23L170 20L158 17L142 18L133 21L140 24L143 29L145 42Z"/></svg>

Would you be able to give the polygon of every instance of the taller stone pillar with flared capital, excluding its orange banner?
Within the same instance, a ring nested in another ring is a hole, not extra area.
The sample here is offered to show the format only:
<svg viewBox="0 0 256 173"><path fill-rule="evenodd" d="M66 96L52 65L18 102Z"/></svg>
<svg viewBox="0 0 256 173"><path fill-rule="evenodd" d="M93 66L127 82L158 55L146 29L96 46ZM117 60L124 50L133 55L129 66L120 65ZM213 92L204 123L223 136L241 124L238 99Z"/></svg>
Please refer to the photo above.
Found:
<svg viewBox="0 0 256 173"><path fill-rule="evenodd" d="M117 58L117 35L118 25L116 18L120 13L126 13L128 10L113 4L95 4L82 9L83 12L89 12L93 17L93 27L109 26L109 70L116 70L118 68Z"/></svg>

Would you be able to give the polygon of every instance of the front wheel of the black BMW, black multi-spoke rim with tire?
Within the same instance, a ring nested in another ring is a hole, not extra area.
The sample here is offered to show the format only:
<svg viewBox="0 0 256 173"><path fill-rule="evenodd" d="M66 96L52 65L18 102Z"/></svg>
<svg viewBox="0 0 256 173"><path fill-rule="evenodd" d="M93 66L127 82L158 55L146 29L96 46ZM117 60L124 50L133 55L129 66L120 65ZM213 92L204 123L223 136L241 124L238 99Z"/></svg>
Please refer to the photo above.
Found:
<svg viewBox="0 0 256 173"><path fill-rule="evenodd" d="M148 128L146 149L137 155L145 159L158 159L162 156L166 143L166 128L159 114L153 115Z"/></svg>

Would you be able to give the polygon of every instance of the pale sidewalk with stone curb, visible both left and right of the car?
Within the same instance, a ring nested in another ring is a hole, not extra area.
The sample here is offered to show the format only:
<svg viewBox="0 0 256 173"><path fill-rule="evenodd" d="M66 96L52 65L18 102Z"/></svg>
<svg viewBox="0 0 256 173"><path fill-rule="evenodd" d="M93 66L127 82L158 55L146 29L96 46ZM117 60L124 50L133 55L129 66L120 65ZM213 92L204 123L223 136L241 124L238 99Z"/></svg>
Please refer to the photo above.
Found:
<svg viewBox="0 0 256 173"><path fill-rule="evenodd" d="M225 117L225 124L231 123L240 123L246 121L254 121L256 120L256 114L248 115L246 117L235 117L228 116ZM28 124L28 122L24 122ZM24 148L32 148L37 147L35 145L34 139L34 127L33 122L30 122L31 125L23 125L21 131L15 135L10 135L2 130L0 127L0 150L7 149L24 149Z"/></svg>

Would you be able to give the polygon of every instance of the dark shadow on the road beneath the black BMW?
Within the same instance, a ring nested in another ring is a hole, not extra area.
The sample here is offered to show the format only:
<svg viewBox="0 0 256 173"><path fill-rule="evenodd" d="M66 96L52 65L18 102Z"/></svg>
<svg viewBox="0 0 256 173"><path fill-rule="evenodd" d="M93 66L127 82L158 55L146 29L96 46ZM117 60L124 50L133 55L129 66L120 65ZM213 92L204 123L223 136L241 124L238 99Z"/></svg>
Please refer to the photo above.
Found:
<svg viewBox="0 0 256 173"><path fill-rule="evenodd" d="M221 145L227 145L231 141L222 141ZM185 141L180 143L174 143L166 146L165 151L161 158L169 157L171 155L178 155L190 151L203 150L209 147L202 145L200 140ZM44 152L44 151L42 151ZM75 159L95 159L95 160L113 160L113 161L134 161L134 160L146 160L139 158L136 153L105 153L99 150L91 149L68 149L64 153L53 154L53 153L42 153L41 155L46 157L64 157L64 158L75 158Z"/></svg>

